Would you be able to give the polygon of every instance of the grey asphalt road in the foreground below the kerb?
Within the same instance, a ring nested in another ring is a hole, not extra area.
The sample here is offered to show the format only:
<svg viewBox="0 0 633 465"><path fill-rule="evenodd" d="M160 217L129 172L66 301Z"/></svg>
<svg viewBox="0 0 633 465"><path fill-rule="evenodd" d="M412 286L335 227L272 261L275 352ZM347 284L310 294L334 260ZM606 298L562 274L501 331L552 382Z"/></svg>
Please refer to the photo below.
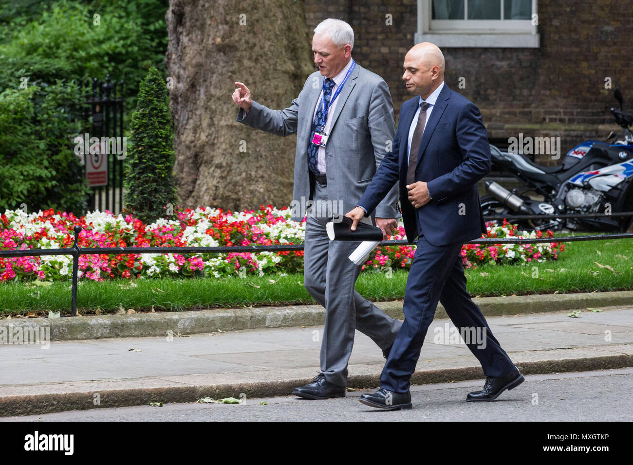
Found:
<svg viewBox="0 0 633 465"><path fill-rule="evenodd" d="M483 381L411 387L413 410L381 411L344 399L293 396L243 404L164 404L69 411L0 421L631 421L633 368L526 376L494 402L466 402ZM266 402L266 404L260 404Z"/></svg>

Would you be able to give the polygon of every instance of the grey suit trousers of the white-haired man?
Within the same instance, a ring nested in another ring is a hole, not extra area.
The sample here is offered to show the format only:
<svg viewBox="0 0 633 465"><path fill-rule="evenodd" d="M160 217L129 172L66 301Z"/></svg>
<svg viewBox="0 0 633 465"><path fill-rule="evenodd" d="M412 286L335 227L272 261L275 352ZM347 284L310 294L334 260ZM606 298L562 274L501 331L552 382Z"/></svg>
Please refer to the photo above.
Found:
<svg viewBox="0 0 633 465"><path fill-rule="evenodd" d="M325 225L331 220L332 211L328 217L325 208L319 207L328 201L327 186L316 183L313 201L306 219L303 285L315 301L325 307L321 371L330 383L345 386L354 331L358 329L380 349L387 349L393 344L402 322L387 316L354 290L361 267L348 257L360 242L327 237ZM333 209L335 213L347 213Z"/></svg>

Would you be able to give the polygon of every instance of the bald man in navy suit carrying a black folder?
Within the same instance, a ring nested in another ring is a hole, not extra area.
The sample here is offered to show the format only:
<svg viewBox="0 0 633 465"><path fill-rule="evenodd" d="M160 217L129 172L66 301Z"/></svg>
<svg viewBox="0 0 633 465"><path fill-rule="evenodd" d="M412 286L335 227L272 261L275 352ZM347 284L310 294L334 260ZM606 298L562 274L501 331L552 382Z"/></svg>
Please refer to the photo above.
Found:
<svg viewBox="0 0 633 465"><path fill-rule="evenodd" d="M380 389L360 401L387 410L411 408L410 378L438 301L462 337L482 334L479 341L463 337L487 376L484 389L471 392L467 400L493 400L524 378L470 299L461 261L463 243L486 231L477 194L477 181L491 168L486 127L479 109L444 84L444 56L436 45L417 44L406 54L403 80L415 97L400 109L392 151L358 206L346 214L355 230L399 180L406 237L410 243L418 237L404 294L404 323L382 370Z"/></svg>

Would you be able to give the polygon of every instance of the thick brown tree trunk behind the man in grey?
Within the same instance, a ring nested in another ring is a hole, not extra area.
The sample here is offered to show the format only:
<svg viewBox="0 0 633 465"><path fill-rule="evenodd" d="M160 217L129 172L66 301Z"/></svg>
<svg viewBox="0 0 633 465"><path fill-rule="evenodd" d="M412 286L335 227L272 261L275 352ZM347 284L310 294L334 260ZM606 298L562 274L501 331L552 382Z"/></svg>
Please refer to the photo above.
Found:
<svg viewBox="0 0 633 465"><path fill-rule="evenodd" d="M231 94L244 82L273 109L299 95L314 70L303 1L170 0L166 22L180 205L288 206L296 135L238 123Z"/></svg>

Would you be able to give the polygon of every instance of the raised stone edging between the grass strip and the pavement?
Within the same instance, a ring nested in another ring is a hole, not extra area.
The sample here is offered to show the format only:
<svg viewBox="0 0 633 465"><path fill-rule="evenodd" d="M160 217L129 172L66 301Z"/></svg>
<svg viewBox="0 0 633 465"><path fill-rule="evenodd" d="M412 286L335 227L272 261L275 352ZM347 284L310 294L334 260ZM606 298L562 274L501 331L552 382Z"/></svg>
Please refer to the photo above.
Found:
<svg viewBox="0 0 633 465"><path fill-rule="evenodd" d="M549 313L585 310L591 307L633 305L633 290L613 292L579 292L576 294L508 295L473 297L482 313L489 316ZM403 301L375 302L392 318L403 319ZM438 304L436 318L448 318ZM116 337L162 337L168 331L200 334L217 331L318 326L325 322L325 309L320 305L287 305L178 312L141 312L125 315L86 315L67 318L0 319L3 328L43 328L51 332L51 340L88 340ZM47 329L48 328L48 329Z"/></svg>

